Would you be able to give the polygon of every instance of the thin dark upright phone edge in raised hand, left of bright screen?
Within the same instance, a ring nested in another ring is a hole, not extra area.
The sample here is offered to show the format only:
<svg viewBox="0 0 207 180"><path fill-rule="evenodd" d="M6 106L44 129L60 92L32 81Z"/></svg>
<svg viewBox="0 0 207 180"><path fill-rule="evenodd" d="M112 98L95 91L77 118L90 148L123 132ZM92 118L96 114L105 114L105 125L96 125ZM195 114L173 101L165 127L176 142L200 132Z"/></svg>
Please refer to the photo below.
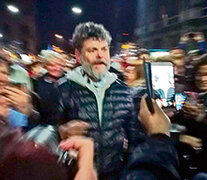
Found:
<svg viewBox="0 0 207 180"><path fill-rule="evenodd" d="M143 57L143 66L144 66L144 76L145 76L145 82L147 87L147 107L149 111L153 114L154 113L154 107L152 103L152 98L154 98L153 94L153 87L152 87L152 71L151 71L151 63L145 61L145 57Z"/></svg>

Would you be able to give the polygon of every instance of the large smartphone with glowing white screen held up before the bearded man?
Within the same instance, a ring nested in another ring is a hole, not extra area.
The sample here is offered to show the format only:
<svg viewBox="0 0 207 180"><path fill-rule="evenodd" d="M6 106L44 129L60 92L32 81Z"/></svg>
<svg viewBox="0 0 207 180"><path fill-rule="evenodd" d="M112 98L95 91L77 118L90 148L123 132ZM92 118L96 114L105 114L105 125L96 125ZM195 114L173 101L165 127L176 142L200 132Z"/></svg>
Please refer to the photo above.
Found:
<svg viewBox="0 0 207 180"><path fill-rule="evenodd" d="M169 61L151 63L152 87L164 107L173 105L175 95L174 66Z"/></svg>

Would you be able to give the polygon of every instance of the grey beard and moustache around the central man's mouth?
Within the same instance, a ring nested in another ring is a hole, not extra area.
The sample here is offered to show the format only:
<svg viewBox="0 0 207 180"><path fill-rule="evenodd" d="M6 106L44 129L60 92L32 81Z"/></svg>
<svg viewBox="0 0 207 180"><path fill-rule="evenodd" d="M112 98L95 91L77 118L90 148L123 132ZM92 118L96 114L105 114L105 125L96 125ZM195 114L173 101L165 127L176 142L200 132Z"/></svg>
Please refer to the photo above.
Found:
<svg viewBox="0 0 207 180"><path fill-rule="evenodd" d="M100 63L103 63L106 66L106 70L101 73L93 70L93 65L100 64ZM88 76L91 77L95 81L100 81L105 76L105 74L108 72L110 68L109 62L107 62L104 59L97 59L93 64L90 64L86 62L83 57L81 57L81 65L84 71L88 74Z"/></svg>

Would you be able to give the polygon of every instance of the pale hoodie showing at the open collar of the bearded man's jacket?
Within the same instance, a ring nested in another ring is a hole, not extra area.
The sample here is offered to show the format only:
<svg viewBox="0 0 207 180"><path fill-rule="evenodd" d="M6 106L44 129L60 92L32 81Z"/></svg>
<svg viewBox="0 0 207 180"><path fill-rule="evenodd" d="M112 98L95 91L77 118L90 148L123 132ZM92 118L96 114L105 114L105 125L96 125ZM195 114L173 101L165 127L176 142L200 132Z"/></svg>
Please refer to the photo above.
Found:
<svg viewBox="0 0 207 180"><path fill-rule="evenodd" d="M87 75L84 75L84 70L81 66L70 71L67 75L68 79L83 86L87 87L91 92L94 93L98 105L99 124L102 124L102 109L103 99L105 91L116 81L117 75L114 73L107 72L106 75L99 82L94 82Z"/></svg>

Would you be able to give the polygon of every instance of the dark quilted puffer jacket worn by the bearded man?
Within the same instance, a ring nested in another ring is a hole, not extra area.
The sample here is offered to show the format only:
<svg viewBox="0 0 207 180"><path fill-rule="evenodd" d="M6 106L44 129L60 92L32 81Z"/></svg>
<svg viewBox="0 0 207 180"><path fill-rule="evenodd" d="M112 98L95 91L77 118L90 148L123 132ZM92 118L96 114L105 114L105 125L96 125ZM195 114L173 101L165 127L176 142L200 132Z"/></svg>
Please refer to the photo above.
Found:
<svg viewBox="0 0 207 180"><path fill-rule="evenodd" d="M80 119L91 125L90 136L95 140L95 162L99 174L110 179L117 177L123 168L125 152L141 141L142 130L135 116L129 88L116 80L106 90L103 101L102 124L99 124L98 108L93 92L69 81L62 88L64 112L67 122ZM124 148L128 140L129 149ZM101 178L103 179L103 178ZM106 178L107 179L107 178Z"/></svg>

